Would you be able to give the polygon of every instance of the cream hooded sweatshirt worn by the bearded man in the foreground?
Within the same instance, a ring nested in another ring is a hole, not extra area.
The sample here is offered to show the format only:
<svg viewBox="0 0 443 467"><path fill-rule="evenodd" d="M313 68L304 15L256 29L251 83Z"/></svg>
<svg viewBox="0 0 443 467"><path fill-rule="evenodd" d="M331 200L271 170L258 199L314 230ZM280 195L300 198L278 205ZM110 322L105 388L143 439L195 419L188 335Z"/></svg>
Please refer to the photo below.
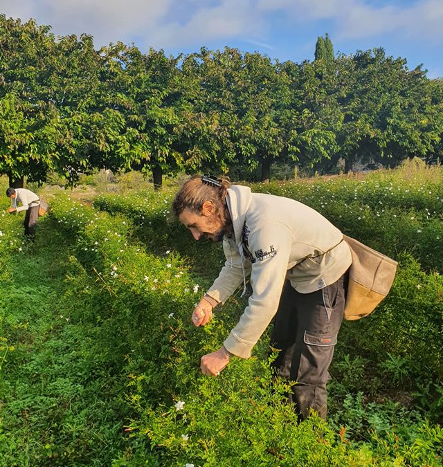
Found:
<svg viewBox="0 0 443 467"><path fill-rule="evenodd" d="M239 185L226 201L234 237L224 237L226 263L207 295L224 302L251 274L248 306L224 342L248 358L278 309L284 280L300 293L314 292L336 282L352 259L341 231L307 205Z"/></svg>

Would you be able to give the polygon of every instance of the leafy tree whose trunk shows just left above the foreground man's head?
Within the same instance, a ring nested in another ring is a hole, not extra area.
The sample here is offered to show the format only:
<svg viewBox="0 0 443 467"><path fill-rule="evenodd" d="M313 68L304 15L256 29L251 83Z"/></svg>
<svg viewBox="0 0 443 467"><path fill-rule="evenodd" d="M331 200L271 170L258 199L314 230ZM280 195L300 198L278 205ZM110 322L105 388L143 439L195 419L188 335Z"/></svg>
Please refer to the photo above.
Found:
<svg viewBox="0 0 443 467"><path fill-rule="evenodd" d="M127 165L152 172L154 187L162 184L163 174L183 169L178 128L186 109L181 57L166 57L150 49L143 54L135 46L118 43L105 50L109 107L125 121L131 154Z"/></svg>

